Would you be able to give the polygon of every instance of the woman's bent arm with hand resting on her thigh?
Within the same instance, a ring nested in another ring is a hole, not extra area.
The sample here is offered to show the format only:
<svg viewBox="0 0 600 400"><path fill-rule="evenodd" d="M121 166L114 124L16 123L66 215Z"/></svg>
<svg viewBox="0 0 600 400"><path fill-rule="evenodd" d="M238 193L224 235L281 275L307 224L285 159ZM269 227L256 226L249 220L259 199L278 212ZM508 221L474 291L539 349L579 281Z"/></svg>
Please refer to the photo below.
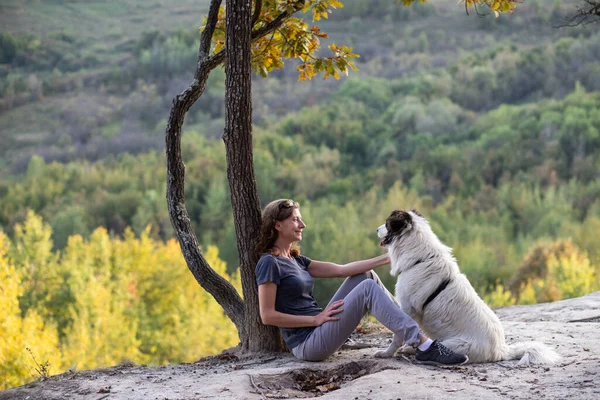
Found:
<svg viewBox="0 0 600 400"><path fill-rule="evenodd" d="M275 295L277 285L273 282L265 282L258 286L258 304L260 307L260 319L265 325L275 325L281 328L303 328L307 326L319 326L327 321L337 321L338 317L333 315L342 312L340 308L343 300L331 303L323 312L314 317L309 315L292 315L275 311Z"/></svg>

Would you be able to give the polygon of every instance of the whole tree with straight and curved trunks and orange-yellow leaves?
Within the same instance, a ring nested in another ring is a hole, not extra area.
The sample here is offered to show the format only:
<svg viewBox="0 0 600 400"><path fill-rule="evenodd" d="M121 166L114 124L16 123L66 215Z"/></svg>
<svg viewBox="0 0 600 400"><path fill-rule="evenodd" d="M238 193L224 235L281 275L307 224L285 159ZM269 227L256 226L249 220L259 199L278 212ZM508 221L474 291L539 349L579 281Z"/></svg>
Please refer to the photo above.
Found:
<svg viewBox="0 0 600 400"><path fill-rule="evenodd" d="M486 5L494 12L511 12L518 0L464 0L466 7ZM410 5L414 0L403 0ZM338 0L211 0L200 37L198 62L189 87L173 99L166 127L167 205L175 235L186 263L198 283L223 307L235 324L243 351L280 351L279 332L259 319L253 248L260 224L260 202L252 158L251 70L266 77L282 68L285 59L298 59L299 79L317 73L339 79L356 70L352 49L332 44L330 57L317 57L320 38L327 34L294 17L312 12L314 20L327 18ZM214 46L211 46L211 42ZM210 72L225 60L227 178L240 258L244 300L233 286L207 263L185 206L185 165L181 156L181 130L186 113L206 88Z"/></svg>

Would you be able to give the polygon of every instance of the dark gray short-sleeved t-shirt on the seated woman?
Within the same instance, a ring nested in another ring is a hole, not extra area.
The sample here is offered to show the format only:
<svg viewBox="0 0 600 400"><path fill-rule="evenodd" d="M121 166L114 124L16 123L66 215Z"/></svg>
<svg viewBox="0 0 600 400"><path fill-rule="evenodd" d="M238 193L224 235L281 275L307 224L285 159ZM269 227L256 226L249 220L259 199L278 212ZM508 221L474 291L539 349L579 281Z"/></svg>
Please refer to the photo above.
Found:
<svg viewBox="0 0 600 400"><path fill-rule="evenodd" d="M308 273L310 258L300 255L292 259L264 254L256 264L256 283L277 285L275 310L292 315L315 316L323 309L313 297L314 280ZM304 342L314 327L281 328L285 344L293 349Z"/></svg>

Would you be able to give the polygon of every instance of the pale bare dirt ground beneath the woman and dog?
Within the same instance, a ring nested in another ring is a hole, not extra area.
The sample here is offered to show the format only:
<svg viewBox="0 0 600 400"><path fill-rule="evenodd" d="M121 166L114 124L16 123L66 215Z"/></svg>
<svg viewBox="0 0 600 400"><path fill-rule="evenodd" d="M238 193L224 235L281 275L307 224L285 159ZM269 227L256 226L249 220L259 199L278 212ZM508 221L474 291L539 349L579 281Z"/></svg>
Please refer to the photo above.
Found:
<svg viewBox="0 0 600 400"><path fill-rule="evenodd" d="M538 340L562 355L552 367L516 361L438 368L410 356L373 354L392 338L385 329L355 333L358 348L324 362L290 354L221 354L192 364L124 364L67 372L0 392L6 399L600 399L600 292L577 299L496 310L507 342Z"/></svg>

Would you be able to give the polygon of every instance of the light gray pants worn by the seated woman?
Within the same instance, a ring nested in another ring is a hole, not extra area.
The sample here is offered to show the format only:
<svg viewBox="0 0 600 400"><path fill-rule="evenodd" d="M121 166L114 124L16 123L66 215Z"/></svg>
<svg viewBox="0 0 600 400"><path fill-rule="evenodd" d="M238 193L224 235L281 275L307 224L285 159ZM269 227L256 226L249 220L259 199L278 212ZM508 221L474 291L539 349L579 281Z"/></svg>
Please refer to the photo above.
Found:
<svg viewBox="0 0 600 400"><path fill-rule="evenodd" d="M318 326L304 342L294 347L292 353L297 358L320 361L329 357L346 342L367 312L394 332L394 340L399 345L419 344L419 325L400 309L374 271L346 278L329 304L340 299L344 299L344 311L336 314L340 319Z"/></svg>

